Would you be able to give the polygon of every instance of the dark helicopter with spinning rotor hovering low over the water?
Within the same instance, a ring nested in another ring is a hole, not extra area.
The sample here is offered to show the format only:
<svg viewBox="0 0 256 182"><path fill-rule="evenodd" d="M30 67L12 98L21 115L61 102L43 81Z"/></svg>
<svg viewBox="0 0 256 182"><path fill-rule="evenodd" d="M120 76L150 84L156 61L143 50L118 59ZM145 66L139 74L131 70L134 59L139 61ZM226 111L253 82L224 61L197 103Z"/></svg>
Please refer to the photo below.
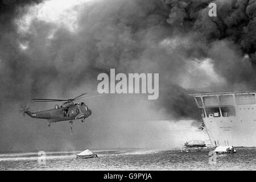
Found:
<svg viewBox="0 0 256 182"><path fill-rule="evenodd" d="M32 101L34 102L65 102L60 106L55 105L54 109L32 112L27 106L25 106L23 107L22 111L31 118L47 119L49 122L49 127L53 122L69 121L69 126L72 133L73 120L81 119L81 122L84 123L85 118L88 118L92 114L92 111L88 106L85 105L84 102L74 102L76 100L80 100L80 97L84 96L85 94L86 93L82 93L80 96L68 99L33 98Z"/></svg>

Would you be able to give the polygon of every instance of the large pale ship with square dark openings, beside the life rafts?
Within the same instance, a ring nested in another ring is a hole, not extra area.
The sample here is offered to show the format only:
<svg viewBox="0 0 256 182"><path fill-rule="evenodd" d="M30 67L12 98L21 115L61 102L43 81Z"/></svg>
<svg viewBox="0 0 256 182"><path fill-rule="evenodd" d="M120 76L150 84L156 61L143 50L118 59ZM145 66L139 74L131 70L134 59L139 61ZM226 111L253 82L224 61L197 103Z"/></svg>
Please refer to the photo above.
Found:
<svg viewBox="0 0 256 182"><path fill-rule="evenodd" d="M256 147L256 91L191 94L213 146Z"/></svg>

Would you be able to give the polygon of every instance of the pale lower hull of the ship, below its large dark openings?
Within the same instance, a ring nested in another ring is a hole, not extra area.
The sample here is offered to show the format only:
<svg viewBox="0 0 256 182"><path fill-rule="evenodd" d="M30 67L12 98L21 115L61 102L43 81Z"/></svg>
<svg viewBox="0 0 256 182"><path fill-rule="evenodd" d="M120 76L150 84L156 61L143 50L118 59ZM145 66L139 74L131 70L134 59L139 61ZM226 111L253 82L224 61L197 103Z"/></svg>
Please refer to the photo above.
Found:
<svg viewBox="0 0 256 182"><path fill-rule="evenodd" d="M214 146L256 147L256 114L249 114L250 107L244 106L246 110L242 108L243 113L236 117L203 118L210 142Z"/></svg>

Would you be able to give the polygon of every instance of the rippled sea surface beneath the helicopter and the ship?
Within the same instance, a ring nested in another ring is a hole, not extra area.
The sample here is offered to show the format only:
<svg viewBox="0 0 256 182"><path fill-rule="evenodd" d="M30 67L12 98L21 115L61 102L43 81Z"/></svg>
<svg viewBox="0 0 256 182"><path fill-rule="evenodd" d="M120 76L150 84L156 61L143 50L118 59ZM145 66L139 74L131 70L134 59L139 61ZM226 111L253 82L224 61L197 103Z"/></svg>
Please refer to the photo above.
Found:
<svg viewBox="0 0 256 182"><path fill-rule="evenodd" d="M79 152L52 152L45 164L36 153L1 154L0 170L255 170L256 148L236 148L236 154L216 155L210 163L205 150L101 150L98 158L76 159Z"/></svg>

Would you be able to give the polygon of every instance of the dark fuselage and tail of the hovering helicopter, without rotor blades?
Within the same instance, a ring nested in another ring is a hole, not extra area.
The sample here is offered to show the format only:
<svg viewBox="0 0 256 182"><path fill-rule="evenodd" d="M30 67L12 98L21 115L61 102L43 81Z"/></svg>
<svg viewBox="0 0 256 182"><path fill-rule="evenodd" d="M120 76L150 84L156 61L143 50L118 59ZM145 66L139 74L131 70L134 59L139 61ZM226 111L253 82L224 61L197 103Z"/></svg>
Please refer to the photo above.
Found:
<svg viewBox="0 0 256 182"><path fill-rule="evenodd" d="M92 111L84 104L65 102L60 107L55 105L55 109L44 110L44 111L24 111L31 118L47 119L49 123L60 122L60 121L72 121L75 119L88 118Z"/></svg>

